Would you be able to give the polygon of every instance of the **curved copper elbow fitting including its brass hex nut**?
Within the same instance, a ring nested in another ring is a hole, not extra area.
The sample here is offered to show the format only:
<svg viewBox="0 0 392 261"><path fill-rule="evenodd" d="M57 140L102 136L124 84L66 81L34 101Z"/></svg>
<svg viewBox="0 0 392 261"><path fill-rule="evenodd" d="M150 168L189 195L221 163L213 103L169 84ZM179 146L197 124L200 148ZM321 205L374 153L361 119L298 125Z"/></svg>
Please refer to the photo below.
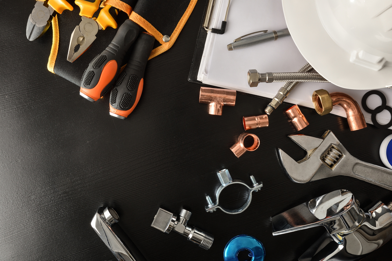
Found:
<svg viewBox="0 0 392 261"><path fill-rule="evenodd" d="M320 92L321 91L321 92ZM320 115L325 115L325 107L329 107L328 104L332 103L332 106L341 106L347 115L348 126L351 131L361 130L367 127L365 117L358 103L350 96L343 92L331 92L328 93L326 90L317 90L313 92L312 101L316 112ZM332 110L328 109L328 113Z"/></svg>

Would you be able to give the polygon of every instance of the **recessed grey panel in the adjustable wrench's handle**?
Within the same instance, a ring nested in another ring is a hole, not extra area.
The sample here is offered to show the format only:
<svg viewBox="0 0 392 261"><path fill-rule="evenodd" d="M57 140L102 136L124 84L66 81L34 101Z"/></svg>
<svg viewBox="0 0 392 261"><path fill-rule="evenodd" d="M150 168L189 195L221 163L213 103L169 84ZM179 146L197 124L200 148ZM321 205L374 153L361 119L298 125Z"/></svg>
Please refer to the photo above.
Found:
<svg viewBox="0 0 392 261"><path fill-rule="evenodd" d="M392 190L392 170L366 162L358 162L352 168L356 178Z"/></svg>

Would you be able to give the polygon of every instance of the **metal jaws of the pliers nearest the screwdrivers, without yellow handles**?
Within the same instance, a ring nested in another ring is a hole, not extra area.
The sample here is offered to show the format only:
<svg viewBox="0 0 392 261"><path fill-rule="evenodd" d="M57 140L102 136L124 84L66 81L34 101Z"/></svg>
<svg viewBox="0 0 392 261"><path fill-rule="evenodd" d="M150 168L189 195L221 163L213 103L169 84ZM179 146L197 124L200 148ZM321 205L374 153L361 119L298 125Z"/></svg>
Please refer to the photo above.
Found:
<svg viewBox="0 0 392 261"><path fill-rule="evenodd" d="M82 22L77 25L71 34L67 61L71 63L81 56L96 39L99 25L93 18L82 16Z"/></svg>

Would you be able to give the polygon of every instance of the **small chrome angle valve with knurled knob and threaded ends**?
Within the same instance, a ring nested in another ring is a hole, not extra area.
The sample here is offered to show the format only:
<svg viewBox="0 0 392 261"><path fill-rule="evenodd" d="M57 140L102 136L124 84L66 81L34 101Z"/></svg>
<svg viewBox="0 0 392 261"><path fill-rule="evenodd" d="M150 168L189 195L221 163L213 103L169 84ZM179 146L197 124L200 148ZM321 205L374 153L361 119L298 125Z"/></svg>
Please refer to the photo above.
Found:
<svg viewBox="0 0 392 261"><path fill-rule="evenodd" d="M152 221L151 227L167 234L174 230L178 234L186 236L189 241L199 245L199 247L205 250L210 249L214 242L214 236L196 227L188 226L187 223L191 215L190 211L181 209L180 217L177 218L176 214L160 208L154 217L154 221Z"/></svg>

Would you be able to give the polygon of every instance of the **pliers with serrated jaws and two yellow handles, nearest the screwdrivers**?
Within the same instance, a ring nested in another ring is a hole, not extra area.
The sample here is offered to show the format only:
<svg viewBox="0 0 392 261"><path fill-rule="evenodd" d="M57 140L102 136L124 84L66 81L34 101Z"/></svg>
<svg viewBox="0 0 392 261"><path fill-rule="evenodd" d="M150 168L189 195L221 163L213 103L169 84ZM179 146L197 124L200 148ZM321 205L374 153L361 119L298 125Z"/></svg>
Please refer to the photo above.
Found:
<svg viewBox="0 0 392 261"><path fill-rule="evenodd" d="M108 26L114 29L117 28L116 19L120 10L111 5L105 5L98 18L93 17L99 8L100 2L100 0L75 1L75 4L80 7L79 14L82 16L82 22L75 27L71 35L67 57L67 60L71 63L89 49L99 30L105 30Z"/></svg>

